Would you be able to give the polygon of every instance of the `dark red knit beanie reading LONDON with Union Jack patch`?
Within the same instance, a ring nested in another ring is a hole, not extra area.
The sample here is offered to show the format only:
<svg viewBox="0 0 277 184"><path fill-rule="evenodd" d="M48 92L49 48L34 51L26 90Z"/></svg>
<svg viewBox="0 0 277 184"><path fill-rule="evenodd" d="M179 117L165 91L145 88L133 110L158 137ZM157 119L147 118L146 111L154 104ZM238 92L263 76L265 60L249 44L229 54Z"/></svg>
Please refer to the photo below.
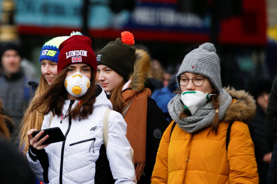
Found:
<svg viewBox="0 0 277 184"><path fill-rule="evenodd" d="M58 74L68 65L85 63L96 74L97 62L91 48L91 39L83 35L74 35L62 42L59 46Z"/></svg>

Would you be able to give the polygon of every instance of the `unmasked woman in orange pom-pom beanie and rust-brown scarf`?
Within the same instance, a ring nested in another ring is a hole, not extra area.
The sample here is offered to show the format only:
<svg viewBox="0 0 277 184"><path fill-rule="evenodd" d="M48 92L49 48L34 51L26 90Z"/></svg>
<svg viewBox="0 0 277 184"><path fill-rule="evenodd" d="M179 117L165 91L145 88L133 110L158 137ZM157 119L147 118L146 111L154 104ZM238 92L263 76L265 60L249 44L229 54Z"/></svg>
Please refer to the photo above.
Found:
<svg viewBox="0 0 277 184"><path fill-rule="evenodd" d="M127 123L127 138L134 149L138 183L150 183L161 136L168 126L162 110L151 99L150 56L136 49L134 36L125 31L98 53L98 80L110 94L114 110Z"/></svg>

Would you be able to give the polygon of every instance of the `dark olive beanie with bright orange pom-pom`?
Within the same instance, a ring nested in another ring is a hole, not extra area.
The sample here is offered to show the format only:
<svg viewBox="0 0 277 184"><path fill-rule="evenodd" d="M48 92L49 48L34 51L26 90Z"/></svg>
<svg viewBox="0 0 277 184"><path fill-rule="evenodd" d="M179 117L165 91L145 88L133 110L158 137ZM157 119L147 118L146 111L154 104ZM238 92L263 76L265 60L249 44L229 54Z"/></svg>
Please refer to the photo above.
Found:
<svg viewBox="0 0 277 184"><path fill-rule="evenodd" d="M135 52L134 36L128 31L121 33L121 38L109 42L96 57L97 65L106 65L123 76L127 81L134 71Z"/></svg>

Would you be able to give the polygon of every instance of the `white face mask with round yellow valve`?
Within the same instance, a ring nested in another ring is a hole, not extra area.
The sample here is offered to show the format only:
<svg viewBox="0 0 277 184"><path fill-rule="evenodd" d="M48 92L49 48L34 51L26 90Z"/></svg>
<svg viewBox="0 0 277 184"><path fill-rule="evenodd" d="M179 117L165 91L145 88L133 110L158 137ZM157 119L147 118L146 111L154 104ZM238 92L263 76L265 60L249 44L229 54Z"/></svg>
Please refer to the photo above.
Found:
<svg viewBox="0 0 277 184"><path fill-rule="evenodd" d="M76 72L65 78L64 87L70 95L81 97L87 92L87 89L89 89L90 80L87 76L80 72Z"/></svg>

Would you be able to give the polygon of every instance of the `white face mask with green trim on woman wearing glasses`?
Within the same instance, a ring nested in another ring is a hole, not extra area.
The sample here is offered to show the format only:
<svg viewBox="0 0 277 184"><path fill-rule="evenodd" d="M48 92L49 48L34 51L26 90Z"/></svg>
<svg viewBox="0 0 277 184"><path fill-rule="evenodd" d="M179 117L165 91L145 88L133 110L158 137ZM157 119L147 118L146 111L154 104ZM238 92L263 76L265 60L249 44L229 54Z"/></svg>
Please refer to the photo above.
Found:
<svg viewBox="0 0 277 184"><path fill-rule="evenodd" d="M212 95L209 93L204 94L201 91L184 91L181 93L181 101L186 111L193 115L197 109L203 107L207 103L207 100L209 100Z"/></svg>

